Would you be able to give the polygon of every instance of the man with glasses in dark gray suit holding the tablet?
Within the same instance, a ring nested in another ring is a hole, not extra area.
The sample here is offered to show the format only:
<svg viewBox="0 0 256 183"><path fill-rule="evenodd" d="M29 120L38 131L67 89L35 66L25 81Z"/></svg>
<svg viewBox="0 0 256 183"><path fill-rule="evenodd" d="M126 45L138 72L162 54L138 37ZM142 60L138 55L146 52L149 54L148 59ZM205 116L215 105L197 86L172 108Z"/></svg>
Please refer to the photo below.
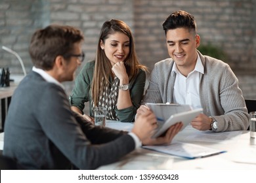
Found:
<svg viewBox="0 0 256 183"><path fill-rule="evenodd" d="M81 31L70 26L49 25L32 36L34 67L14 92L5 122L3 155L22 169L96 169L142 143L169 143L181 129L179 123L165 137L150 139L157 124L147 108L140 108L131 133L95 126L72 112L60 83L74 80L82 42Z"/></svg>

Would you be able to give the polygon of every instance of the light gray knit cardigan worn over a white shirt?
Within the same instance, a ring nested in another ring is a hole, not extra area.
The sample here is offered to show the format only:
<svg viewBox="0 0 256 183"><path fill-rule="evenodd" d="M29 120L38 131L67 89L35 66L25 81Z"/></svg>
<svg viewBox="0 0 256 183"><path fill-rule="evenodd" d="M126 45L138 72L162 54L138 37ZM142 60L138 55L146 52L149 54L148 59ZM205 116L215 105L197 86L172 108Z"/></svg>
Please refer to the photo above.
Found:
<svg viewBox="0 0 256 183"><path fill-rule="evenodd" d="M204 67L200 73L200 102L203 114L217 120L217 131L246 130L249 114L245 107L238 78L223 61L198 52ZM167 58L155 64L149 86L142 103L173 103L175 76L171 76L173 59Z"/></svg>

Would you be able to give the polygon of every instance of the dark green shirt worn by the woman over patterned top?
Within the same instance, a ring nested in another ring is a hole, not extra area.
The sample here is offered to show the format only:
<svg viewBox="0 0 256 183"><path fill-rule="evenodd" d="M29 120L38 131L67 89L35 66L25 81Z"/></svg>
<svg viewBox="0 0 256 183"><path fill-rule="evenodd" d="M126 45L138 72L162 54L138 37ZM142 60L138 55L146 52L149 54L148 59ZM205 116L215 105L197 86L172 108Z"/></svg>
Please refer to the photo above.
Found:
<svg viewBox="0 0 256 183"><path fill-rule="evenodd" d="M95 70L95 61L90 61L85 64L79 75L75 79L75 87L70 95L70 105L78 107L81 111L85 108L85 102L89 101L90 116L93 116L91 106L91 82L93 81L93 73ZM112 80L111 80L112 82ZM135 80L129 83L132 107L118 110L116 108L117 117L121 122L133 122L137 109L140 107L144 86L146 82L146 72L139 70Z"/></svg>

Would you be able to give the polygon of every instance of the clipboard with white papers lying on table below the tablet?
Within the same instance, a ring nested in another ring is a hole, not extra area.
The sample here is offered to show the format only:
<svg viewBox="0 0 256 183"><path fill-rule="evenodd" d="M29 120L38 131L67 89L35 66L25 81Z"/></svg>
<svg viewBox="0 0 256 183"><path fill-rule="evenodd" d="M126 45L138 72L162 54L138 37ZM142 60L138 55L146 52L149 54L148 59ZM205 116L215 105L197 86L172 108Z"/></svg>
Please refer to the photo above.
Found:
<svg viewBox="0 0 256 183"><path fill-rule="evenodd" d="M188 159L205 158L226 152L184 142L172 142L165 146L143 146L143 148Z"/></svg>

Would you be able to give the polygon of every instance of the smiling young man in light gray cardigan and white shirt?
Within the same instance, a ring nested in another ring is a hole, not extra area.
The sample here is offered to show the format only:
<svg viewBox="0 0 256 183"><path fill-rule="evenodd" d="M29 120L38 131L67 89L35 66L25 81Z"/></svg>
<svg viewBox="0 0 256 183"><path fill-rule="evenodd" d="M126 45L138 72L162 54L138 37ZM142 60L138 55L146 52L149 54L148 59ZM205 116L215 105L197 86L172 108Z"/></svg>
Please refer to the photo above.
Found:
<svg viewBox="0 0 256 183"><path fill-rule="evenodd" d="M238 79L221 60L198 52L194 16L179 10L163 22L169 56L155 64L143 103L179 103L203 108L192 120L198 130L246 130L249 114Z"/></svg>

